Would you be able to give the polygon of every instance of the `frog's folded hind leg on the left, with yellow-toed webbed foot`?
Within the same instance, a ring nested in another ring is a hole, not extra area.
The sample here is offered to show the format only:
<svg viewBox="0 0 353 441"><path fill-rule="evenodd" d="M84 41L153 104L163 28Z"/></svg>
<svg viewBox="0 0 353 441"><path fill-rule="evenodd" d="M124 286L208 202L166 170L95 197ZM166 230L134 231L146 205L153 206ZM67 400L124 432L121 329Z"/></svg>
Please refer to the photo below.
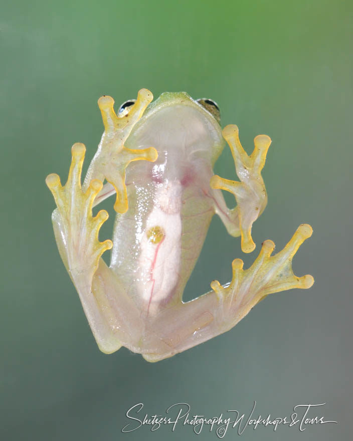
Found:
<svg viewBox="0 0 353 441"><path fill-rule="evenodd" d="M133 346L133 340L138 340L139 318L131 299L101 259L104 251L112 247L110 240L98 240L108 213L100 210L96 216L92 215L93 201L102 189L102 182L95 179L85 191L81 188L84 155L85 146L74 144L67 183L62 186L57 174L50 174L46 182L57 204L52 221L60 256L100 350L111 353L122 344ZM119 308L114 308L117 301ZM127 333L132 325L134 331Z"/></svg>

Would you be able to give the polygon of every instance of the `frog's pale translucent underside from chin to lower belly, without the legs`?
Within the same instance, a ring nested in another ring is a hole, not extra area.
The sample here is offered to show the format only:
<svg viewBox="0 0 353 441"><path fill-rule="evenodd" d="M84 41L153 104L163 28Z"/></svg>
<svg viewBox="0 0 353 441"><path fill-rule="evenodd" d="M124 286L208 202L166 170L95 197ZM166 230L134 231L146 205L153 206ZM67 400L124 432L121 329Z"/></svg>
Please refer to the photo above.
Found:
<svg viewBox="0 0 353 441"><path fill-rule="evenodd" d="M186 94L163 94L126 142L130 148L151 145L158 152L156 161L127 169L129 209L116 218L110 266L149 313L151 307L157 311L173 298L182 299L217 199L228 211L220 191L210 187L212 153L221 151L224 140L219 124L201 106ZM141 234L154 226L163 230L158 244ZM122 255L122 249L128 252Z"/></svg>

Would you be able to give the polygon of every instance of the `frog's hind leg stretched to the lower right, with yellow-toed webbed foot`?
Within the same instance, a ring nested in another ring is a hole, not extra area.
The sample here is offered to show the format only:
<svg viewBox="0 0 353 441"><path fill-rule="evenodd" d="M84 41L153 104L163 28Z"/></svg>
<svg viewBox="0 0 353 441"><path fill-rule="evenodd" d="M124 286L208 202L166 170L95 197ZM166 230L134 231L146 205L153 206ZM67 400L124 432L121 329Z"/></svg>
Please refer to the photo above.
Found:
<svg viewBox="0 0 353 441"><path fill-rule="evenodd" d="M148 324L141 350L143 357L158 361L230 330L268 294L310 288L314 283L312 276L295 276L291 262L311 234L309 225L301 225L284 249L274 256L274 243L265 241L259 256L247 270L243 269L241 259L233 261L230 284L222 286L214 281L209 293L161 311Z"/></svg>

